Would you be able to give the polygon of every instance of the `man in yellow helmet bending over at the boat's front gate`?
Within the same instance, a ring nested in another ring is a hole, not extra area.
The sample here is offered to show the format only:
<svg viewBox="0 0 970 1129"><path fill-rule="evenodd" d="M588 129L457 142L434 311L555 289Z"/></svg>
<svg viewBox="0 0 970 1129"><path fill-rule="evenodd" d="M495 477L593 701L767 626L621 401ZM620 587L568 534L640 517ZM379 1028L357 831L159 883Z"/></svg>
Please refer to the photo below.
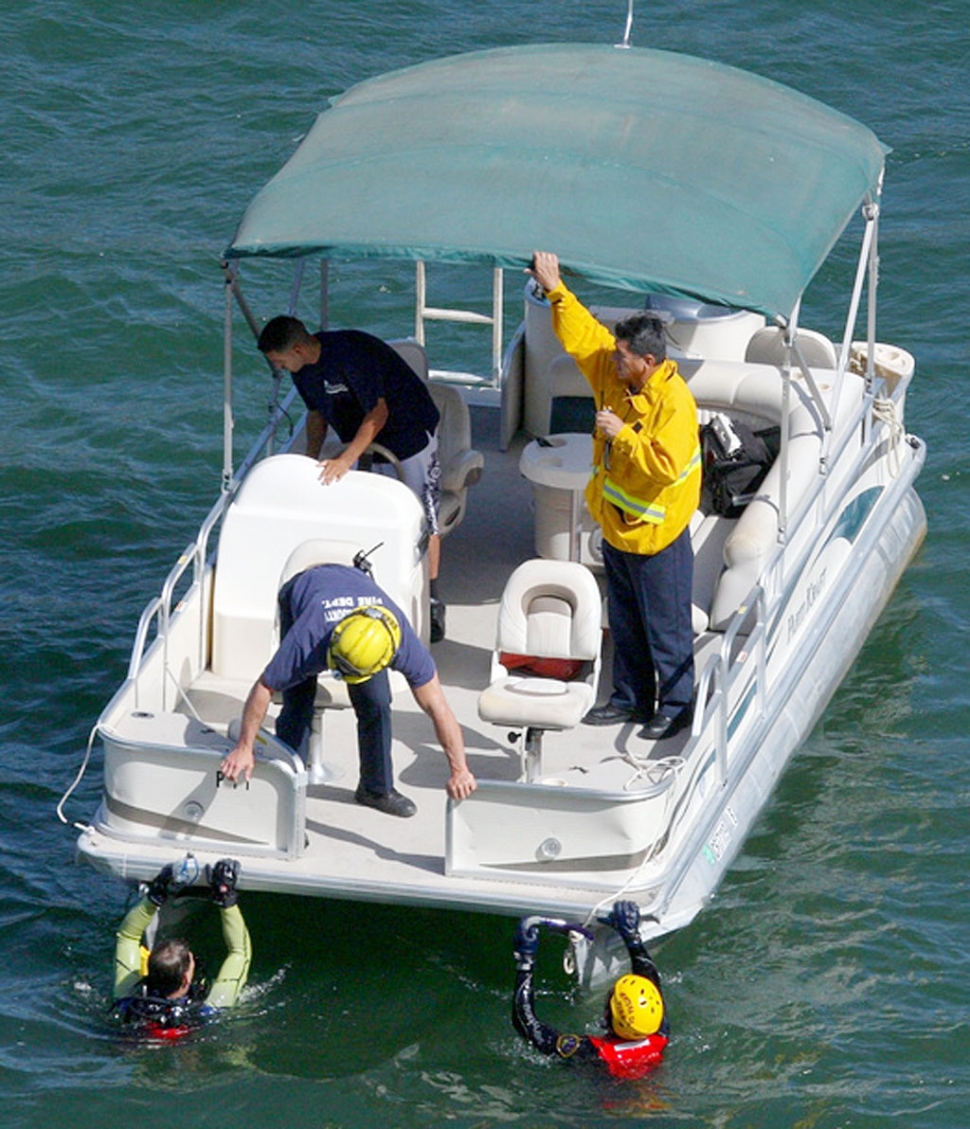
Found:
<svg viewBox="0 0 970 1129"><path fill-rule="evenodd" d="M277 736L306 760L316 676L333 669L347 682L357 715L357 803L390 815L413 815L413 803L394 788L390 667L404 675L414 700L431 718L451 765L448 795L464 799L474 791L462 729L434 659L404 613L369 576L359 568L321 564L285 584L279 605L279 650L246 698L239 739L220 765L228 780L239 776L248 780L253 774L256 734L274 691L283 698Z"/></svg>

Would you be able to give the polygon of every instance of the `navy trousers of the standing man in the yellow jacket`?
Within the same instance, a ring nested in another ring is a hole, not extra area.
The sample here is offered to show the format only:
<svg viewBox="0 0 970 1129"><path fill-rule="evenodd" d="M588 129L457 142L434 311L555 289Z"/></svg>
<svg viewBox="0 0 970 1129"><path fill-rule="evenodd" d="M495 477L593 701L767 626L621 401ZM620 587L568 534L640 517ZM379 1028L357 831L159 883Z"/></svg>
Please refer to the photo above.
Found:
<svg viewBox="0 0 970 1129"><path fill-rule="evenodd" d="M645 557L603 542L613 637L610 701L640 717L676 717L693 702L690 531Z"/></svg>

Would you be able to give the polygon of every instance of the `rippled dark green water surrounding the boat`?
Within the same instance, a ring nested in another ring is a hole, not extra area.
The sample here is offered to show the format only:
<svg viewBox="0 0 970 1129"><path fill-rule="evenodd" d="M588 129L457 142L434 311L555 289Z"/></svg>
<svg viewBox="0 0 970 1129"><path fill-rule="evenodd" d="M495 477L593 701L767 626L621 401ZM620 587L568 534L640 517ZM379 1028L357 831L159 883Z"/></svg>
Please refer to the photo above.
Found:
<svg viewBox="0 0 970 1129"><path fill-rule="evenodd" d="M0 1124L970 1121L965 0L637 6L635 43L786 81L892 146L880 336L917 356L907 425L929 444L920 558L719 896L658 953L663 1068L611 1085L526 1052L506 921L271 896L246 899L253 988L229 1022L130 1049L102 1021L125 891L75 865L54 807L218 489L220 251L329 96L456 51L615 42L624 17L622 0L0 11ZM848 264L807 303L834 335ZM254 286L260 312L280 279ZM365 327L408 332L403 294L344 282L337 321L360 304ZM253 380L241 447L262 401ZM72 817L97 790L95 771ZM553 1022L596 1015L548 986Z"/></svg>

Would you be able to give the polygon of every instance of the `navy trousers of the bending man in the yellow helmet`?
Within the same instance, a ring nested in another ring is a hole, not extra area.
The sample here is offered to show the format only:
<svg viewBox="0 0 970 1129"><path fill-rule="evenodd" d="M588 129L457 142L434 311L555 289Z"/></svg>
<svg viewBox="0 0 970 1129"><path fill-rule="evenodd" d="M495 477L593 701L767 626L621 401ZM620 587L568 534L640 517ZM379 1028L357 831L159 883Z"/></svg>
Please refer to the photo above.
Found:
<svg viewBox="0 0 970 1129"><path fill-rule="evenodd" d="M280 592L280 634L292 627L289 586ZM348 685L350 702L357 715L357 751L360 758L360 784L368 790L385 795L394 787L391 763L391 680L381 671L367 682ZM277 736L298 753L306 763L316 675L283 690L283 708L277 718Z"/></svg>

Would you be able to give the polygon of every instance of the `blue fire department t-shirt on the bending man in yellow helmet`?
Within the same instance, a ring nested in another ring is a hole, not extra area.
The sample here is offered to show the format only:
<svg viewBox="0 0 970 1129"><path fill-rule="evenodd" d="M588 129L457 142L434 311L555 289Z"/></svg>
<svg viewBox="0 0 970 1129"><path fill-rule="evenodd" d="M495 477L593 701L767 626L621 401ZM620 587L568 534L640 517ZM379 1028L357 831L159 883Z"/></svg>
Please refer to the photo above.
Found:
<svg viewBox="0 0 970 1129"><path fill-rule="evenodd" d="M307 569L291 583L287 598L292 627L262 674L271 690L288 690L325 671L335 624L349 612L369 604L386 607L401 624L401 646L391 659L391 669L400 671L412 690L435 676L435 660L414 634L408 616L360 569L346 564Z"/></svg>

